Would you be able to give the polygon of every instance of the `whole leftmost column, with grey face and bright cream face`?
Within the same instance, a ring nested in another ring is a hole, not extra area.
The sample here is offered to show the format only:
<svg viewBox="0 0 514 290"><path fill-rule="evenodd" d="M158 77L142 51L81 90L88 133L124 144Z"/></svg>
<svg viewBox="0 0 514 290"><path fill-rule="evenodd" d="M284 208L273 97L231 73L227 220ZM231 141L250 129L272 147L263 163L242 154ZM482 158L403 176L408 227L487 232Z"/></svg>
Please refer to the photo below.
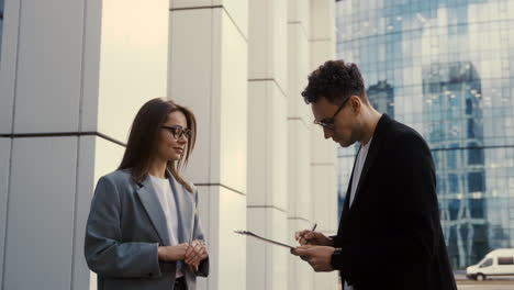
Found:
<svg viewBox="0 0 514 290"><path fill-rule="evenodd" d="M119 165L136 111L166 96L168 15L166 0L7 1L0 65L5 289L96 289L83 258L93 187Z"/></svg>

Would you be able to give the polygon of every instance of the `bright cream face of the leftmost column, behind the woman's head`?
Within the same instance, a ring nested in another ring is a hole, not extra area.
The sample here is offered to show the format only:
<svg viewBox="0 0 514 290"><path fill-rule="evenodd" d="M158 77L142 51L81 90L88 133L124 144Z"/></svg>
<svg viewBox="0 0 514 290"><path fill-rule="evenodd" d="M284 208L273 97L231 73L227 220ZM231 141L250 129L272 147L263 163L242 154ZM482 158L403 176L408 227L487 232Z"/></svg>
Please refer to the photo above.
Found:
<svg viewBox="0 0 514 290"><path fill-rule="evenodd" d="M83 205L80 207L85 210L81 210L79 219L83 221L82 232L93 189L88 185L94 186L102 175L120 165L123 144L139 108L150 99L166 97L169 29L167 0L150 1L144 5L136 0L88 0L87 5L88 12L97 12L86 14L90 18L89 25L94 27L100 23L101 26L100 37L91 33L90 43L87 43L87 48L91 49L90 57L99 55L99 62L98 68L91 67L86 74L90 85L85 86L82 130L96 131L103 137L87 137L80 145L79 161L82 160L85 167L81 170L83 176L79 179L80 196L85 196ZM101 12L100 16L98 12ZM93 163L85 153L87 150L94 152ZM81 236L76 253L81 254L82 241ZM83 261L81 256L79 258ZM94 287L94 283L96 275L91 275L91 286Z"/></svg>

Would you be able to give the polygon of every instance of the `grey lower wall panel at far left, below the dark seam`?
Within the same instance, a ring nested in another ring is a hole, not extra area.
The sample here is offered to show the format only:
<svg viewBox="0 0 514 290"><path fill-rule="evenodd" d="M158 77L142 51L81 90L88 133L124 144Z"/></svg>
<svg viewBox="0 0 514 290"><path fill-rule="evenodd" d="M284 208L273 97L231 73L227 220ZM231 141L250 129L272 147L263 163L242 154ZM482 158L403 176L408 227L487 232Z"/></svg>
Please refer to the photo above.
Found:
<svg viewBox="0 0 514 290"><path fill-rule="evenodd" d="M72 250L77 137L16 138L12 164L3 286L67 289L79 255Z"/></svg>

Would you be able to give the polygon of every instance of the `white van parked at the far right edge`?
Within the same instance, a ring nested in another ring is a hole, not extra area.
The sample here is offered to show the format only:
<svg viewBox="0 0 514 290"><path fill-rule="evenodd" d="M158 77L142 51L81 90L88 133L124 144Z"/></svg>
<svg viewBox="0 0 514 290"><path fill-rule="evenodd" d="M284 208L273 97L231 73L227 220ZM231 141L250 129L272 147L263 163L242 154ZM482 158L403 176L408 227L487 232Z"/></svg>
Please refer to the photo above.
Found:
<svg viewBox="0 0 514 290"><path fill-rule="evenodd" d="M477 265L466 268L466 277L479 281L490 276L514 277L514 248L500 248L485 255Z"/></svg>

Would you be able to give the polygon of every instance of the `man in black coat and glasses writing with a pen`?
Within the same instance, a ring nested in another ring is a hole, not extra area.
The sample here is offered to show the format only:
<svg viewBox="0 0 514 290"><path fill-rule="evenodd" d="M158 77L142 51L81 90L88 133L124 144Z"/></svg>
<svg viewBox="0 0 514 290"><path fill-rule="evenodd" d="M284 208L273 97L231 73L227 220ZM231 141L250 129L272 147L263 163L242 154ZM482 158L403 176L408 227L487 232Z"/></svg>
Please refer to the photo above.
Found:
<svg viewBox="0 0 514 290"><path fill-rule="evenodd" d="M360 143L336 236L297 233L315 271L339 270L343 289L457 289L443 237L436 175L423 137L366 97L355 64L326 62L302 92L325 138Z"/></svg>

